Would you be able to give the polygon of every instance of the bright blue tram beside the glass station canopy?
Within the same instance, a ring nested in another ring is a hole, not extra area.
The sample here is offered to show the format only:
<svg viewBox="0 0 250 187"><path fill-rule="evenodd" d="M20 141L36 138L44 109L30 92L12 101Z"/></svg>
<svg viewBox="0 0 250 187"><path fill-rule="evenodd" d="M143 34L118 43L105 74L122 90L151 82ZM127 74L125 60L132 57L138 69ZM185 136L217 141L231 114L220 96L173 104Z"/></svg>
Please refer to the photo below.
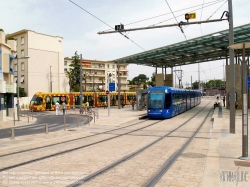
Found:
<svg viewBox="0 0 250 187"><path fill-rule="evenodd" d="M148 89L149 118L171 118L200 104L201 92L168 86Z"/></svg>

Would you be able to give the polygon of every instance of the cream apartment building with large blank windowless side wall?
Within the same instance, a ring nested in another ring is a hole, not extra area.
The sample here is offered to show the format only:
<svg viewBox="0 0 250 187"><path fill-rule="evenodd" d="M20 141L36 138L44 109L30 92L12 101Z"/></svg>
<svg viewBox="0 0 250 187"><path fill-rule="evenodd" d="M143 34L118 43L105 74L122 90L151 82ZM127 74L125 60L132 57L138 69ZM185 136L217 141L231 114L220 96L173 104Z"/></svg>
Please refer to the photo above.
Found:
<svg viewBox="0 0 250 187"><path fill-rule="evenodd" d="M18 64L15 61L14 82L19 81L28 97L36 92L69 90L64 75L62 37L21 30L7 34L6 38L16 41Z"/></svg>

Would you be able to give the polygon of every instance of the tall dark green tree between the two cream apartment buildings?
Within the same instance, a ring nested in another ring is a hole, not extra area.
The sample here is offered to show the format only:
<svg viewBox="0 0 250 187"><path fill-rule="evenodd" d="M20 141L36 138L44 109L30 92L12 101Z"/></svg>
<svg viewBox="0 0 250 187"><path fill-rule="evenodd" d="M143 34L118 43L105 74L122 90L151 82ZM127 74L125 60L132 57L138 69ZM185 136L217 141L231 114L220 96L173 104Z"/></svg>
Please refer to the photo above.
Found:
<svg viewBox="0 0 250 187"><path fill-rule="evenodd" d="M79 91L80 86L80 57L75 52L75 56L72 57L73 61L69 65L69 71L66 72L66 76L69 79L69 87L72 91Z"/></svg>

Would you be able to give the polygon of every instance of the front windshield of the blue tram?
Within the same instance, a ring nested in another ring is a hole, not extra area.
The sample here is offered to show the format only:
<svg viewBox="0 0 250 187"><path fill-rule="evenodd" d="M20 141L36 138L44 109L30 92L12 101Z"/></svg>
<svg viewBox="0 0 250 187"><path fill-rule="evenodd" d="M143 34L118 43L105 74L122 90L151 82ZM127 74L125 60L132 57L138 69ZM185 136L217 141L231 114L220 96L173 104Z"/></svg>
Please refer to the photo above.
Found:
<svg viewBox="0 0 250 187"><path fill-rule="evenodd" d="M152 90L148 98L148 109L162 109L164 90Z"/></svg>

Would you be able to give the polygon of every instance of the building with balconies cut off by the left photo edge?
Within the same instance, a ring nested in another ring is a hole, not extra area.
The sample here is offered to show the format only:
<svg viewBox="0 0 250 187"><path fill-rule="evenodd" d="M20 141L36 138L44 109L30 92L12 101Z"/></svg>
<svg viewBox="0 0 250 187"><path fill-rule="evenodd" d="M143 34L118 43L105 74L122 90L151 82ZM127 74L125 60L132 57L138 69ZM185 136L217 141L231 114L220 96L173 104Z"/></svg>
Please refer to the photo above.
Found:
<svg viewBox="0 0 250 187"><path fill-rule="evenodd" d="M6 41L5 33L0 29L0 121L5 121L6 116L13 116L15 109L16 83L13 81L15 52L16 41Z"/></svg>

